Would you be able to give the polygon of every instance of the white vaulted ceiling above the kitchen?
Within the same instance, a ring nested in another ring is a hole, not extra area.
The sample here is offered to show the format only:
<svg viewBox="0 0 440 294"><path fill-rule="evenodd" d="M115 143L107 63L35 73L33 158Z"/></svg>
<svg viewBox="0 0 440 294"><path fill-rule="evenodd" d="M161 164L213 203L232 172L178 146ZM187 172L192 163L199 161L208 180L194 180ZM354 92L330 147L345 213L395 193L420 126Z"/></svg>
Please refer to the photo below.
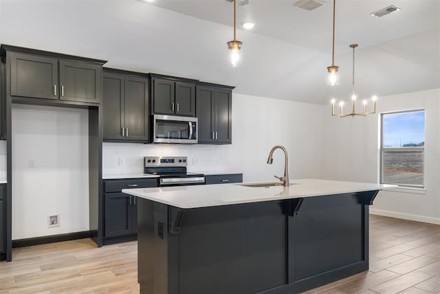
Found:
<svg viewBox="0 0 440 294"><path fill-rule="evenodd" d="M349 98L352 56L360 96L440 87L439 0L336 1L336 65L326 85L333 1L314 11L296 0L237 6L243 63L228 67L232 3L226 0L0 0L0 40L11 45L106 59L107 66L235 85L235 92L307 103ZM401 11L377 19L370 12Z"/></svg>

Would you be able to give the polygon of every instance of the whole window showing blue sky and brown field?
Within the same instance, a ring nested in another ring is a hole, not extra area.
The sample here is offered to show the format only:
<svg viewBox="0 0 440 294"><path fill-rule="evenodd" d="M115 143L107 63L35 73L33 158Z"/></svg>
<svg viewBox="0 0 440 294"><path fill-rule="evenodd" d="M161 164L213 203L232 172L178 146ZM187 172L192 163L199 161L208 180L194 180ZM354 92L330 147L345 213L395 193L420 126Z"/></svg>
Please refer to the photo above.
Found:
<svg viewBox="0 0 440 294"><path fill-rule="evenodd" d="M382 114L381 182L424 187L425 112Z"/></svg>

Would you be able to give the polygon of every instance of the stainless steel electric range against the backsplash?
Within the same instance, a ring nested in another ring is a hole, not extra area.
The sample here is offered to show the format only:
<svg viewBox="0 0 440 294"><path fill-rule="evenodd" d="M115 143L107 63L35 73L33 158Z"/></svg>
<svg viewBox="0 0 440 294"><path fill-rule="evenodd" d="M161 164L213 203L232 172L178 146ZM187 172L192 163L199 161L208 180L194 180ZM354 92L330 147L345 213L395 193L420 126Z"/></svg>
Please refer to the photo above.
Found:
<svg viewBox="0 0 440 294"><path fill-rule="evenodd" d="M188 173L186 156L146 156L144 157L144 174L159 176L159 186L203 185L203 174Z"/></svg>

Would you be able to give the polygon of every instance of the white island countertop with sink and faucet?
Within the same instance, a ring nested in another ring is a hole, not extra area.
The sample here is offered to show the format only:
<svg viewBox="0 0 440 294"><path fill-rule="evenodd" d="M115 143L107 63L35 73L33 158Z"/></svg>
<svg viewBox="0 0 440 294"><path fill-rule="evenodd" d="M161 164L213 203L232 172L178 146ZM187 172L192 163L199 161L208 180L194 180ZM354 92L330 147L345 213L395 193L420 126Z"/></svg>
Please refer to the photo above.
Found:
<svg viewBox="0 0 440 294"><path fill-rule="evenodd" d="M140 198L153 200L183 209L214 207L291 198L324 196L340 193L390 189L395 185L336 180L291 180L290 187L244 187L242 184L196 185L178 187L123 189ZM246 183L249 184L249 183Z"/></svg>

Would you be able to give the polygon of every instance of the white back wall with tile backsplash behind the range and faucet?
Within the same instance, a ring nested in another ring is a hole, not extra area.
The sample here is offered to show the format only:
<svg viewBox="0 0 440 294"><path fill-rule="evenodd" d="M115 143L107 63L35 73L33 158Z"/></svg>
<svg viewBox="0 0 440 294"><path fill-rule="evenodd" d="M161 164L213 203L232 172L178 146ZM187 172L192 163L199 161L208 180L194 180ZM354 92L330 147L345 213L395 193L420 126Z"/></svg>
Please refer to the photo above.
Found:
<svg viewBox="0 0 440 294"><path fill-rule="evenodd" d="M104 143L102 173L142 173L143 156L188 156L189 171L239 172L244 181L276 180L273 176L284 172L283 151L275 152L273 165L266 160L274 145L284 145L292 178L320 178L322 117L315 114L321 108L233 94L232 145ZM118 166L119 158L124 166Z"/></svg>

